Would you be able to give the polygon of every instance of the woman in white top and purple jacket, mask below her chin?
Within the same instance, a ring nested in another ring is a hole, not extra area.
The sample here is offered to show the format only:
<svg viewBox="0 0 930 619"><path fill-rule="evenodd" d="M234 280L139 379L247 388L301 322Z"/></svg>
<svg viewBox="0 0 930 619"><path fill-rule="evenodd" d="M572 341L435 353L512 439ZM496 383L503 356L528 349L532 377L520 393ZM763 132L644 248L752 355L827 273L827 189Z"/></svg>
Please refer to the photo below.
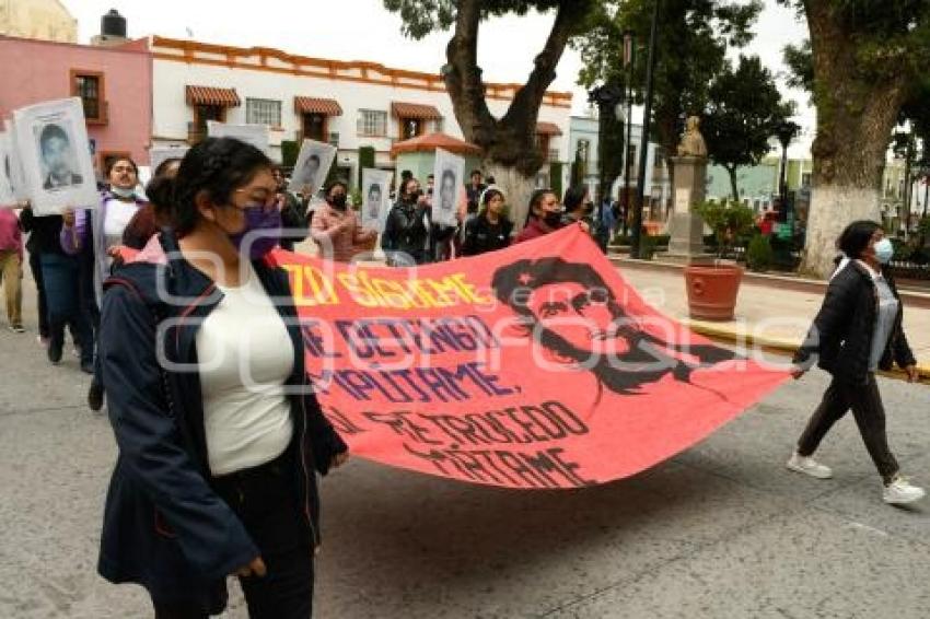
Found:
<svg viewBox="0 0 930 619"><path fill-rule="evenodd" d="M66 211L60 234L61 248L82 264L81 312L89 316L95 335L100 331L103 281L109 276L114 258L119 255L126 226L147 203L136 192L139 168L135 161L129 157L112 159L104 174L109 188L101 195L98 210ZM95 337L91 338L85 346L93 350L95 341ZM103 407L104 399L98 357L94 358L93 375L88 390L88 407L96 411Z"/></svg>

